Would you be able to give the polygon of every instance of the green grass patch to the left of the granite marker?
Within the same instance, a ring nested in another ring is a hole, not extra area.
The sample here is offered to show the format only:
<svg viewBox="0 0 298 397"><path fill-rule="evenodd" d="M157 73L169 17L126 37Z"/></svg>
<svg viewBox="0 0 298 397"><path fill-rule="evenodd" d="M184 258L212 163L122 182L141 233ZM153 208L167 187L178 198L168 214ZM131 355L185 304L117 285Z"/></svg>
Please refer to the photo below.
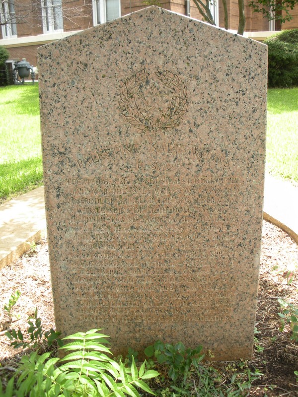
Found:
<svg viewBox="0 0 298 397"><path fill-rule="evenodd" d="M38 84L0 87L0 203L42 184Z"/></svg>

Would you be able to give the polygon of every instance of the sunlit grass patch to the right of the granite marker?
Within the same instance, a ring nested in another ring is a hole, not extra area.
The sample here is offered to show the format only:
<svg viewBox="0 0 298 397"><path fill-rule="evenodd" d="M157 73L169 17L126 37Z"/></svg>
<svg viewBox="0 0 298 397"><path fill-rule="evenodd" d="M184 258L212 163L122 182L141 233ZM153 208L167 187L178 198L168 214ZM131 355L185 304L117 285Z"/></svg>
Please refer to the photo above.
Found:
<svg viewBox="0 0 298 397"><path fill-rule="evenodd" d="M298 182L298 88L268 90L266 169Z"/></svg>

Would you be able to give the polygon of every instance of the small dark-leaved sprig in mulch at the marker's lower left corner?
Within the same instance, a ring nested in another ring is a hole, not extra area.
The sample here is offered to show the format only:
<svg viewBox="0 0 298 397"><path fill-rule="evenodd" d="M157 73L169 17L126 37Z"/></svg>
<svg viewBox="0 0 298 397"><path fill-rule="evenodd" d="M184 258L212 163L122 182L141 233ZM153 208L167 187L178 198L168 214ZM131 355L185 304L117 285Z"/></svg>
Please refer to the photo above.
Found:
<svg viewBox="0 0 298 397"><path fill-rule="evenodd" d="M15 349L18 347L31 347L36 349L45 343L48 346L51 346L55 340L57 341L58 345L62 345L62 341L59 339L60 332L56 332L53 329L50 331L43 330L41 319L37 317L37 308L35 309L34 316L29 317L28 325L29 328L27 333L30 340L29 342L25 340L25 335L23 335L21 330L16 331L13 329L11 331L5 332L5 335L10 340L10 346L13 346Z"/></svg>

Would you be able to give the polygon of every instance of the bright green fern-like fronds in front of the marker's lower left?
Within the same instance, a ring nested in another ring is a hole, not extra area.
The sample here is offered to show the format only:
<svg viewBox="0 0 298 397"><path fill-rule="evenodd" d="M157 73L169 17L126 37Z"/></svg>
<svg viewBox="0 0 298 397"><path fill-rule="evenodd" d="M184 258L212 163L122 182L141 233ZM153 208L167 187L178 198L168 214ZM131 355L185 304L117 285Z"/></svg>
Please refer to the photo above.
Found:
<svg viewBox="0 0 298 397"><path fill-rule="evenodd" d="M2 396L140 397L138 389L154 394L145 381L158 372L146 371L146 362L138 370L134 359L130 367L114 361L107 356L107 335L98 331L64 338L71 341L62 347L68 353L63 359L50 358L50 353L23 356Z"/></svg>

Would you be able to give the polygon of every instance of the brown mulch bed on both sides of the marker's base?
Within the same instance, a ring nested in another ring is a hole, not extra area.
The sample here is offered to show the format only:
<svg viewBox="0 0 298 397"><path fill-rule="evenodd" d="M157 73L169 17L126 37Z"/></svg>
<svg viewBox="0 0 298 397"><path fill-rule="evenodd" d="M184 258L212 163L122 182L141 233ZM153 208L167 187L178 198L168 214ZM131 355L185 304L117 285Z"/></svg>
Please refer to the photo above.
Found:
<svg viewBox="0 0 298 397"><path fill-rule="evenodd" d="M27 320L38 309L44 330L55 328L50 282L48 246L42 240L36 248L0 270L0 378L5 384L13 373L21 350L9 346L7 327L27 329ZM9 325L4 304L19 290ZM290 340L291 330L280 331L281 306L278 298L298 306L298 245L278 227L263 222L260 283L256 317L257 343L251 369L261 378L253 383L248 396L298 396L294 371L298 370L298 343ZM220 364L219 364L220 365Z"/></svg>

